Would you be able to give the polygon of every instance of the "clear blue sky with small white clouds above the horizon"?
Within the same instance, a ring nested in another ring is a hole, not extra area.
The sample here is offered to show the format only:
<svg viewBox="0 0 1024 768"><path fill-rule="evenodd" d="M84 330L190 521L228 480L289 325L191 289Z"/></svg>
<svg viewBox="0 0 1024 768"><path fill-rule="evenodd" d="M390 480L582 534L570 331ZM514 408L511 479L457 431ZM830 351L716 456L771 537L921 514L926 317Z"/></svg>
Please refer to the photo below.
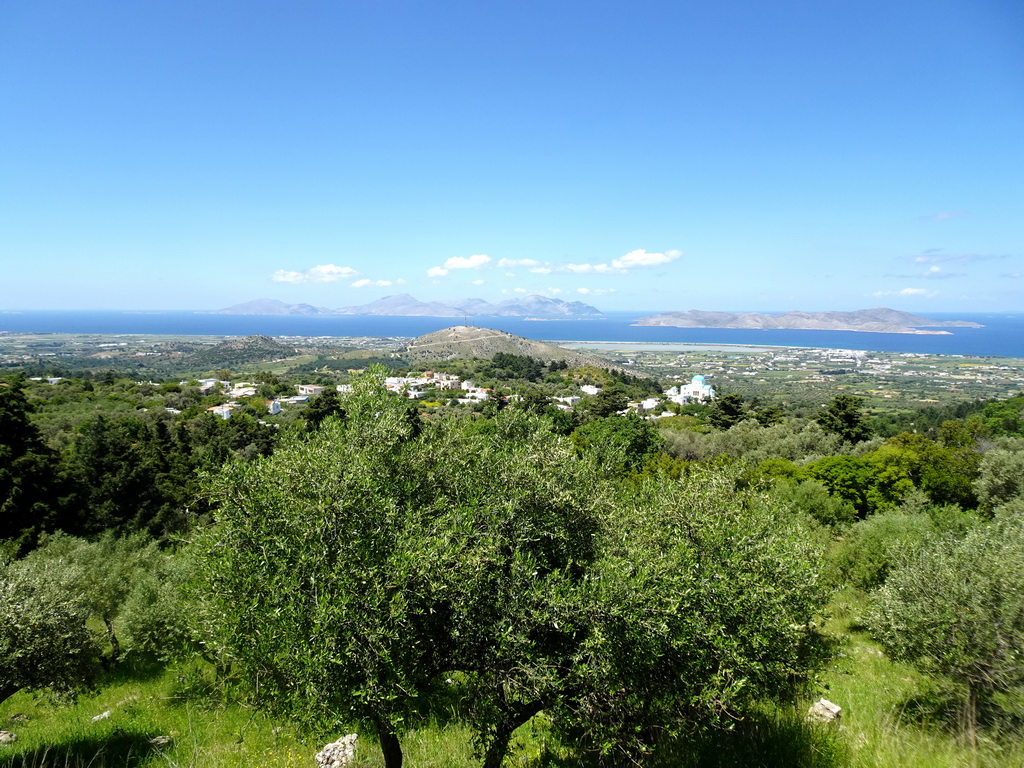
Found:
<svg viewBox="0 0 1024 768"><path fill-rule="evenodd" d="M1024 309L1024 4L0 4L0 309Z"/></svg>

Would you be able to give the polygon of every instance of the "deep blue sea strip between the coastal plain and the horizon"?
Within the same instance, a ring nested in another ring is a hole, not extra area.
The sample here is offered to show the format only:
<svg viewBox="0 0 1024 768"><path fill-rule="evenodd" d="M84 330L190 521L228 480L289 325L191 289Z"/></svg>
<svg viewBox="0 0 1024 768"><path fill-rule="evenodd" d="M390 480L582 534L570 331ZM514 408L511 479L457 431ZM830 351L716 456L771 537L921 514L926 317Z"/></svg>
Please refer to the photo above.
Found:
<svg viewBox="0 0 1024 768"><path fill-rule="evenodd" d="M714 328L633 326L646 313L610 312L603 319L527 321L520 317L469 318L469 324L542 341L620 341L738 344L833 349L865 349L924 354L966 354L1024 358L1024 313L933 314L984 328L946 329L948 335L871 334L853 331L739 331ZM456 317L375 317L365 315L241 315L193 311L24 311L0 312L0 332L248 336L416 337L450 326Z"/></svg>

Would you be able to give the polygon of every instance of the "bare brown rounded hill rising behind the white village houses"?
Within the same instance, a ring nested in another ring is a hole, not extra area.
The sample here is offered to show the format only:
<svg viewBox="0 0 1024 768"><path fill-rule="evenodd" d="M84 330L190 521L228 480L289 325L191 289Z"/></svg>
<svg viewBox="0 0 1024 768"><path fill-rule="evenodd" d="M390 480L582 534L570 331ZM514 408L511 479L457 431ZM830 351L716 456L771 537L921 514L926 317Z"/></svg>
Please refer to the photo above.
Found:
<svg viewBox="0 0 1024 768"><path fill-rule="evenodd" d="M411 361L450 360L456 357L489 359L498 352L506 352L527 355L545 362L564 360L570 366L609 368L608 361L599 357L545 344L543 341L524 339L504 331L472 326L454 326L420 336L409 342L401 351L402 356Z"/></svg>

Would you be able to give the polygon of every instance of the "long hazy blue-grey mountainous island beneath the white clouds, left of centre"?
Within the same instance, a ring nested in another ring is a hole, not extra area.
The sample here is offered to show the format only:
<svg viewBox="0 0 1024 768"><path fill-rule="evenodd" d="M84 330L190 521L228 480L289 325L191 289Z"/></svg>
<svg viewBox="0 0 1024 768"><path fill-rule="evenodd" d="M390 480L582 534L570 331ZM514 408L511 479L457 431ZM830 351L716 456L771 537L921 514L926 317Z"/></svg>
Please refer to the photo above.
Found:
<svg viewBox="0 0 1024 768"><path fill-rule="evenodd" d="M328 309L312 304L286 304L275 299L256 299L208 314L369 314L389 317L529 317L536 319L598 318L601 310L582 301L549 299L536 294L492 304L483 299L458 299L450 302L420 301L408 293L385 296L359 306Z"/></svg>

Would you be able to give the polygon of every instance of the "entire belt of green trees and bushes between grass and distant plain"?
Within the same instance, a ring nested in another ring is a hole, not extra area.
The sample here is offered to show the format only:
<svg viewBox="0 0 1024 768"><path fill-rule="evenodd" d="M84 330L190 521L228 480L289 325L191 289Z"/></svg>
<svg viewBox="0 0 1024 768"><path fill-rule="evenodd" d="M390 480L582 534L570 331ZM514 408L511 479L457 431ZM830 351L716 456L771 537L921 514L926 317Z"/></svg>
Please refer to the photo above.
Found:
<svg viewBox="0 0 1024 768"><path fill-rule="evenodd" d="M5 378L0 699L203 658L247 703L361 724L389 766L443 715L497 768L541 713L584 763L643 762L813 685L847 589L972 741L1019 721L1024 398L627 412L656 382L446 368L489 397L407 399L377 370L270 416L296 382L262 371L222 419L194 380ZM580 385L601 390L569 408Z"/></svg>

